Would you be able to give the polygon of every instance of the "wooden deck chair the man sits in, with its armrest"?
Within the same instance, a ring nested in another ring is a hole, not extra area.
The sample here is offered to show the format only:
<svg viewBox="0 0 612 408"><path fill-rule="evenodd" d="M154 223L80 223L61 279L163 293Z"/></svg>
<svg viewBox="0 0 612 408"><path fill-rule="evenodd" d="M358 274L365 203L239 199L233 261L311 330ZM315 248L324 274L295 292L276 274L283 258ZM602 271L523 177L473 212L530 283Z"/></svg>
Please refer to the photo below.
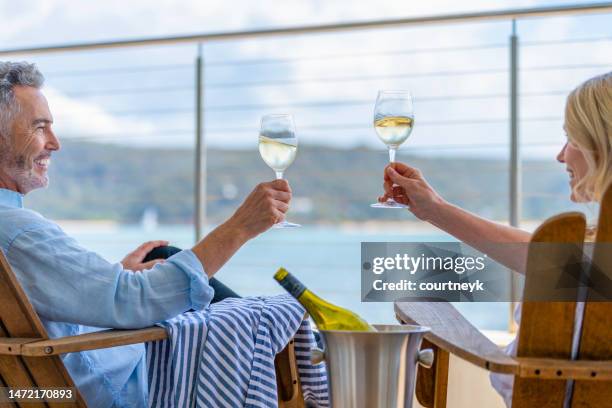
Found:
<svg viewBox="0 0 612 408"><path fill-rule="evenodd" d="M105 330L78 336L49 339L10 265L0 251L0 387L72 387L74 382L59 355L167 338L161 327L140 330ZM301 393L293 340L276 356L279 407L301 408ZM86 407L76 390L72 406ZM2 403L13 407L66 407L66 402Z"/></svg>

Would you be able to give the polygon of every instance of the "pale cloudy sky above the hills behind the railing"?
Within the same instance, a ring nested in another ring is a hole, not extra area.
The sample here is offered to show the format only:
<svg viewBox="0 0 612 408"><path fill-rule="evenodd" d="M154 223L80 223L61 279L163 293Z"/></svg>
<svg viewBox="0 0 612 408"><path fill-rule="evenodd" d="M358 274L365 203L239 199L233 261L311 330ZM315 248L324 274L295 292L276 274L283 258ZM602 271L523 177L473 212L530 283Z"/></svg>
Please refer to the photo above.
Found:
<svg viewBox="0 0 612 408"><path fill-rule="evenodd" d="M0 0L0 49L442 15L579 1ZM517 22L521 143L553 157L563 106L612 70L612 13ZM379 89L409 89L415 129L402 152L505 157L511 23L376 29L207 43L208 145L255 148L259 118L291 113L300 143L384 149L372 129ZM195 44L19 55L47 77L61 137L192 146Z"/></svg>

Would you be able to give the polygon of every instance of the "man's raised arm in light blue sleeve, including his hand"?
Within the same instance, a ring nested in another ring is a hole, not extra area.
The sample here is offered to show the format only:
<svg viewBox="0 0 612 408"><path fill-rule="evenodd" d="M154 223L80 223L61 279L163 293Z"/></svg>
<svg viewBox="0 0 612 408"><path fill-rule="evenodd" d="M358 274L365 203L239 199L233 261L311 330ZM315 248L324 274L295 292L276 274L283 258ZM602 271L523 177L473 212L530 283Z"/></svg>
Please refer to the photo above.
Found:
<svg viewBox="0 0 612 408"><path fill-rule="evenodd" d="M141 273L109 263L46 220L24 228L6 255L41 317L95 327L147 327L206 307L214 295L207 275L217 272L248 239L281 220L290 198L286 181L259 185L193 250Z"/></svg>

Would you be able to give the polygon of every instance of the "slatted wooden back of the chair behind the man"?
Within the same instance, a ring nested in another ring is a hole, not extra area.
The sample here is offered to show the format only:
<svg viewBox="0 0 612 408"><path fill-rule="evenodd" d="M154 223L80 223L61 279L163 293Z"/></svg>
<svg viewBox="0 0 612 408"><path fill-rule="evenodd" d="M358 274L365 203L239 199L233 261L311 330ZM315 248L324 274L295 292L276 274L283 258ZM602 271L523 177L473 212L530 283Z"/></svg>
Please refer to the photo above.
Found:
<svg viewBox="0 0 612 408"><path fill-rule="evenodd" d="M31 338L32 341L49 338L2 251L0 251L0 337ZM15 388L71 387L74 388L76 395L73 406L87 406L59 356L0 355L0 383ZM28 403L26 406L61 408L66 404L41 402Z"/></svg>

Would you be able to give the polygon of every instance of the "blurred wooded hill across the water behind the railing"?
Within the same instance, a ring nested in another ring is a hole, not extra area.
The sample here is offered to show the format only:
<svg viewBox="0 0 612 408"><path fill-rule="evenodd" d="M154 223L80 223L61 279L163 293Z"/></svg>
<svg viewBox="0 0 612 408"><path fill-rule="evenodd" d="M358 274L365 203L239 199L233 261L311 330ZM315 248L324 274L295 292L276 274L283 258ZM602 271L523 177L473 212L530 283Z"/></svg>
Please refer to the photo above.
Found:
<svg viewBox="0 0 612 408"><path fill-rule="evenodd" d="M503 160L399 156L419 167L449 201L481 215L508 214L508 164ZM209 149L208 217L218 222L239 205L257 183L274 173L255 150ZM296 198L292 220L337 222L405 218L369 207L382 191L387 155L366 148L350 150L300 146L286 177ZM550 161L524 163L524 218L566 210L567 175ZM96 143L63 143L53 156L51 185L28 195L27 205L55 219L112 219L138 222L154 207L163 223L193 218L193 152Z"/></svg>

